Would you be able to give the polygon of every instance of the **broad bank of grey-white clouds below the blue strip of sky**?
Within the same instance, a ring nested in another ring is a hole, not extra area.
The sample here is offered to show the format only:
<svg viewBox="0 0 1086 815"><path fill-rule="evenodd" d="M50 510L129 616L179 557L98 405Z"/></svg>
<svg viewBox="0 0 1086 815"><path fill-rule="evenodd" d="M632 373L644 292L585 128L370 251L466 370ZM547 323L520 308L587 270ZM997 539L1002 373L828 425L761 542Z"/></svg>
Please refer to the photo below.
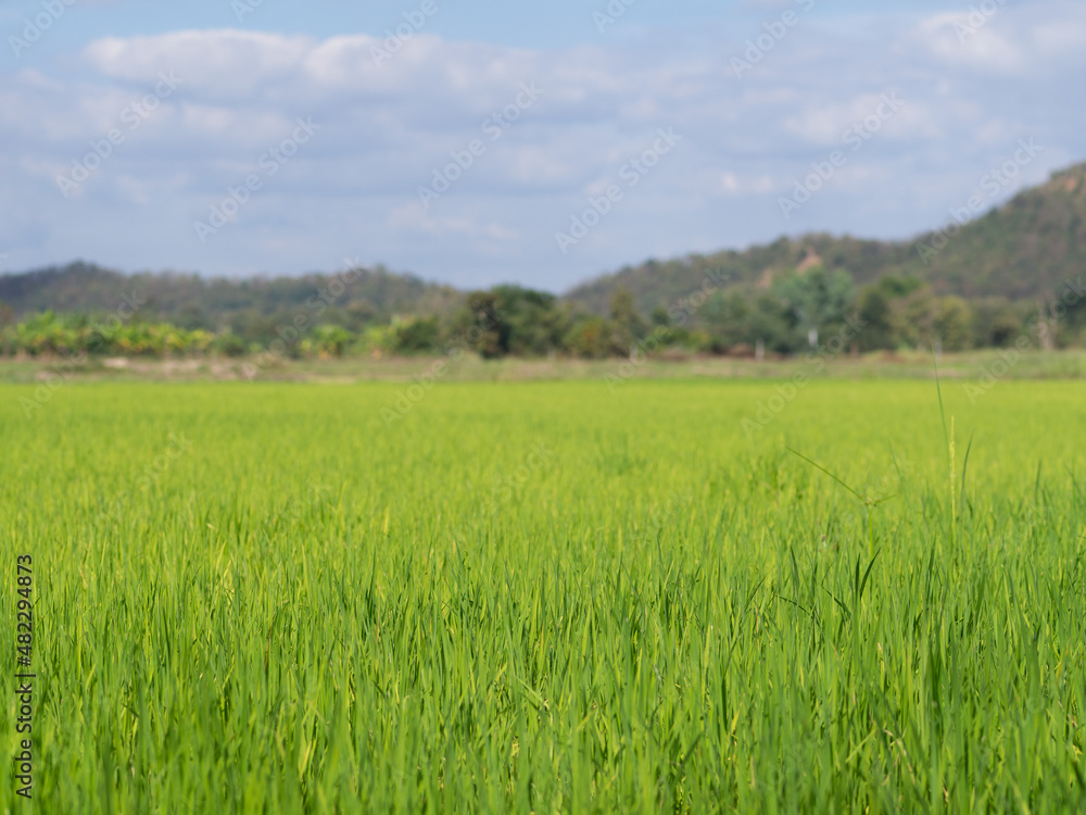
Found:
<svg viewBox="0 0 1086 815"><path fill-rule="evenodd" d="M420 33L387 60L375 60L381 40L362 34L100 39L78 70L67 60L0 82L0 206L25 213L0 223L0 252L9 267L81 256L232 274L361 254L464 285L561 288L649 254L784 231L906 237L940 220L1019 138L1052 146L1036 173L1086 152L1073 104L1086 9L1007 4L963 42L959 20L935 14L899 33L846 36L812 18L742 79L729 59L743 32L689 48L649 39L637 50L556 51ZM182 79L177 91L62 197L56 174L171 72ZM542 91L538 101L492 139L484 121L515 104L522 83ZM892 90L905 108L783 221L776 197ZM299 117L320 129L267 175L262 156ZM617 183L659 127L683 140L589 238L558 252L554 231ZM424 210L418 187L472 140L483 153ZM192 222L251 174L262 188L201 243Z"/></svg>

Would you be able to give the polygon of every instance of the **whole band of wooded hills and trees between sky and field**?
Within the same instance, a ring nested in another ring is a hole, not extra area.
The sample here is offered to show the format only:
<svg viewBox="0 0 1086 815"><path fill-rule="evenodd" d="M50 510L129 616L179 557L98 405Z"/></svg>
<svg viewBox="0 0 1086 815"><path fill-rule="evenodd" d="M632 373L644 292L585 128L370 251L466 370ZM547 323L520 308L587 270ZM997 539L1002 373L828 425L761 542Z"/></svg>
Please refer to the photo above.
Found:
<svg viewBox="0 0 1086 815"><path fill-rule="evenodd" d="M651 261L565 297L459 292L383 268L229 281L73 264L0 277L0 354L746 355L834 337L856 351L1086 344L1086 165L945 238L782 238Z"/></svg>

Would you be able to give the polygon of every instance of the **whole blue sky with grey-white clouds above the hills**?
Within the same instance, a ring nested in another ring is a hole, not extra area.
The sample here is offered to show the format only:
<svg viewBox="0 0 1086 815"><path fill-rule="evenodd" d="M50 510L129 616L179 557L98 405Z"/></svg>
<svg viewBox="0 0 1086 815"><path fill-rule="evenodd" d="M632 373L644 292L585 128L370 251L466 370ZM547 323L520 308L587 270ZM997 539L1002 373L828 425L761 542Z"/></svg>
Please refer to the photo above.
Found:
<svg viewBox="0 0 1086 815"><path fill-rule="evenodd" d="M0 271L560 291L1086 159L1082 0L0 0Z"/></svg>

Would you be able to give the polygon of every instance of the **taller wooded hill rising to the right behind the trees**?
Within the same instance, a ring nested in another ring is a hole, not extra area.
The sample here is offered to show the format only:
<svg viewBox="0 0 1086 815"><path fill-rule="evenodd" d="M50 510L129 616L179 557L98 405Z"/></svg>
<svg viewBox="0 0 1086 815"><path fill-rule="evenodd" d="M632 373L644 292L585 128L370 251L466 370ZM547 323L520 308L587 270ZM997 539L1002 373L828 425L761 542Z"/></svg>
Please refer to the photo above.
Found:
<svg viewBox="0 0 1086 815"><path fill-rule="evenodd" d="M1051 296L1064 280L1076 280L1086 272L1086 163L1055 173L1046 184L1023 190L960 231L951 231L957 234L891 242L830 235L781 238L742 252L648 261L578 286L566 297L605 314L613 292L621 286L633 292L639 310L647 314L687 297L710 269L730 284L768 287L805 262L844 269L859 285L896 274L918 277L937 294L968 299Z"/></svg>

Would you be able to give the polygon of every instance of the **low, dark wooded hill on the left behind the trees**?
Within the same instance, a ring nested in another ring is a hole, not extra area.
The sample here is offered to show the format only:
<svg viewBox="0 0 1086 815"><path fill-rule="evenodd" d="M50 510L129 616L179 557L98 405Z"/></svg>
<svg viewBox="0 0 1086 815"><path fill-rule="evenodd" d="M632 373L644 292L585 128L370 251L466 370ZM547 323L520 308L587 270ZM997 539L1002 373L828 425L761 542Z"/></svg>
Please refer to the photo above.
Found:
<svg viewBox="0 0 1086 815"><path fill-rule="evenodd" d="M0 276L0 303L16 316L34 312L109 313L125 297L146 300L144 318L157 317L186 328L218 329L245 318L268 317L304 308L326 292L326 308L351 311L362 319L395 313L443 315L459 304L462 296L447 286L413 275L356 269L356 279L338 285L342 274L300 277L254 277L242 280L205 278L194 274L124 275L86 263L72 263L24 274Z"/></svg>

